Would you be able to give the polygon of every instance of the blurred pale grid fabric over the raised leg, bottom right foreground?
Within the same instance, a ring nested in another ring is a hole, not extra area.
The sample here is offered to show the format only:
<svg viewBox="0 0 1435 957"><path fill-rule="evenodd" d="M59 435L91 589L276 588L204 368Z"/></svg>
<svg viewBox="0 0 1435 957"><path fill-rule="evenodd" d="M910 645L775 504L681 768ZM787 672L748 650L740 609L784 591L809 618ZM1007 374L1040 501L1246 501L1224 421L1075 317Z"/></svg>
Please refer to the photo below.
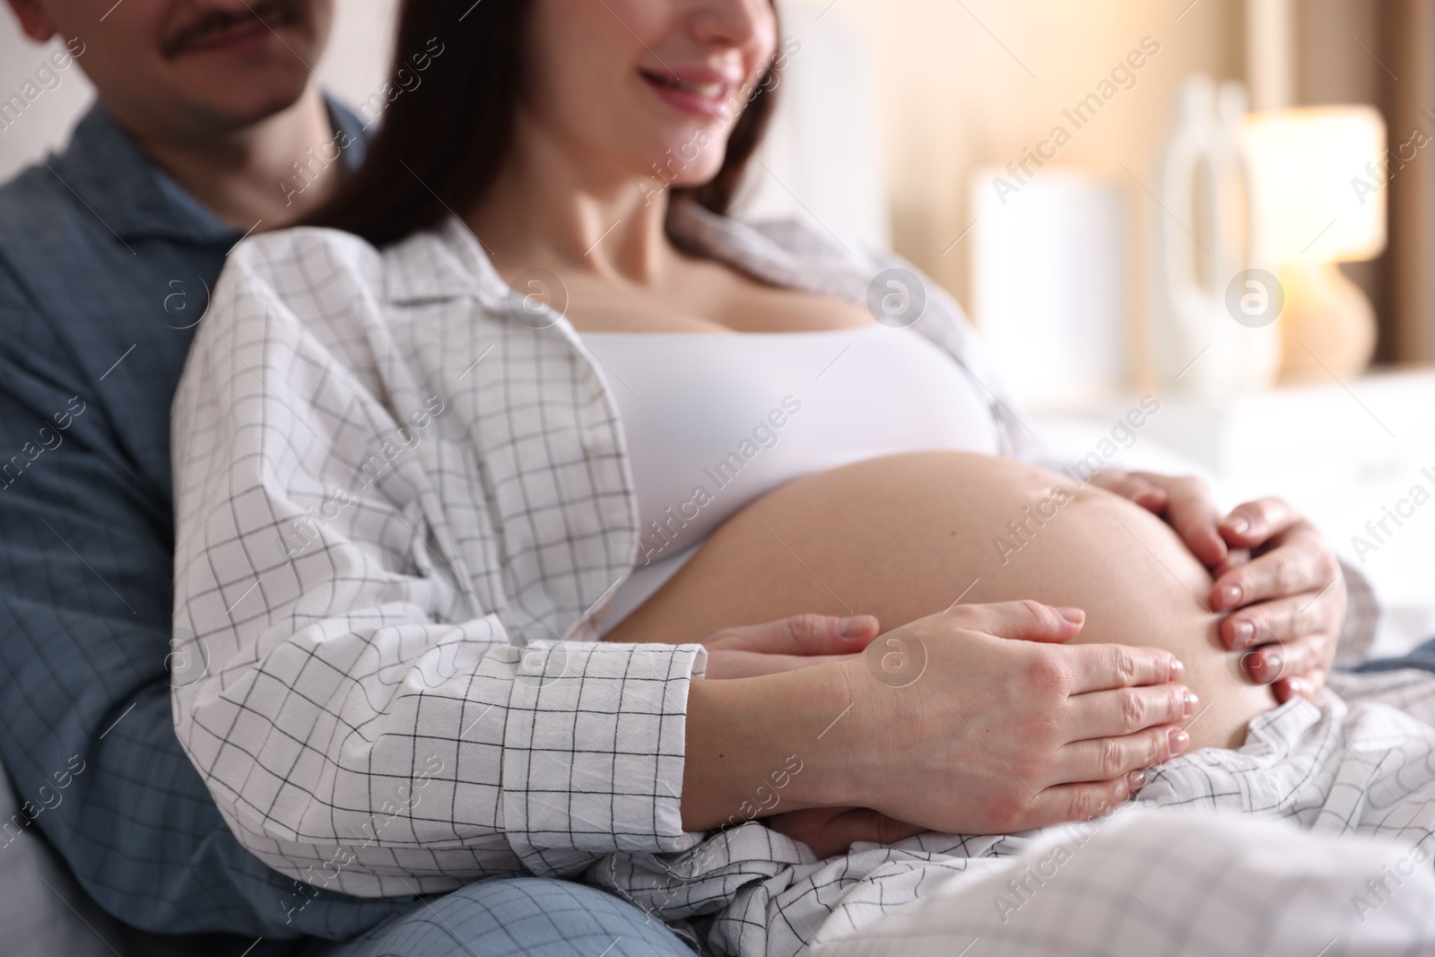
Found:
<svg viewBox="0 0 1435 957"><path fill-rule="evenodd" d="M1050 835L1000 872L934 894L814 957L1418 957L1435 875L1409 848L1279 821L1131 812ZM1366 885L1385 880L1379 902ZM1352 901L1369 901L1355 907Z"/></svg>

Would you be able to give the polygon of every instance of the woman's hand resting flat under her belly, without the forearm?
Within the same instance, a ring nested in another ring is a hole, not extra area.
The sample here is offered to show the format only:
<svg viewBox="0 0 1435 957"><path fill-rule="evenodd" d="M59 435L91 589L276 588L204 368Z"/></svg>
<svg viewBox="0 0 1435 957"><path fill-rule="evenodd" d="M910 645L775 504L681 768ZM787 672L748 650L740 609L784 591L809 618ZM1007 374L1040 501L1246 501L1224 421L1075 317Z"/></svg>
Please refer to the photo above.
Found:
<svg viewBox="0 0 1435 957"><path fill-rule="evenodd" d="M956 605L838 664L852 713L824 732L842 762L839 799L827 803L1007 834L1131 798L1145 768L1185 750L1177 725L1198 702L1170 651L1063 644L1083 620L1036 601ZM847 824L861 826L838 819L819 836Z"/></svg>

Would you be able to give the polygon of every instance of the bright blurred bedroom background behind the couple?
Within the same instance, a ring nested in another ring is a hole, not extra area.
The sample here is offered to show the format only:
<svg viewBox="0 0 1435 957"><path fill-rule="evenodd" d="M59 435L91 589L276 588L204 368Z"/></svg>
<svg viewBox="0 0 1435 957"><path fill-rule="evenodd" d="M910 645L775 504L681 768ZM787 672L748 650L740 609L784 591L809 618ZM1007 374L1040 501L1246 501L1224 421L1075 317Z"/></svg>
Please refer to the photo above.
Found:
<svg viewBox="0 0 1435 957"><path fill-rule="evenodd" d="M337 7L317 72L363 103L395 1ZM1373 581L1378 651L1435 634L1435 0L779 9L801 46L742 215L893 247L1053 455L1283 495ZM0 17L0 178L92 95L46 55Z"/></svg>

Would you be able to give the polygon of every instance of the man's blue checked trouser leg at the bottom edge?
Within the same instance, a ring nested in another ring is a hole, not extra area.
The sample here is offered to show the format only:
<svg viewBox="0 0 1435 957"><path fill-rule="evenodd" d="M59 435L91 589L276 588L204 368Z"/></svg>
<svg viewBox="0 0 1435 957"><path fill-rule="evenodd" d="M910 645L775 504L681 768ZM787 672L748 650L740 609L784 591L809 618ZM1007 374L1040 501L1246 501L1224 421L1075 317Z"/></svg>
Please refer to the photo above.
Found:
<svg viewBox="0 0 1435 957"><path fill-rule="evenodd" d="M492 878L306 957L693 957L656 917L583 884Z"/></svg>

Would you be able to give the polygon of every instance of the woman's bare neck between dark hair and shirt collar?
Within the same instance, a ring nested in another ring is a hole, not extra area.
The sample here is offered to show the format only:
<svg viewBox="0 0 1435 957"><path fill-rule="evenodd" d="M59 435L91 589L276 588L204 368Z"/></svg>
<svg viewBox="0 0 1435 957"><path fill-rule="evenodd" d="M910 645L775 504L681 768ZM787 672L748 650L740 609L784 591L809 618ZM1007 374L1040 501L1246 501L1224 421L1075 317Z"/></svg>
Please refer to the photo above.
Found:
<svg viewBox="0 0 1435 957"><path fill-rule="evenodd" d="M466 222L504 278L530 268L650 286L670 268L667 192L519 122L515 148Z"/></svg>

